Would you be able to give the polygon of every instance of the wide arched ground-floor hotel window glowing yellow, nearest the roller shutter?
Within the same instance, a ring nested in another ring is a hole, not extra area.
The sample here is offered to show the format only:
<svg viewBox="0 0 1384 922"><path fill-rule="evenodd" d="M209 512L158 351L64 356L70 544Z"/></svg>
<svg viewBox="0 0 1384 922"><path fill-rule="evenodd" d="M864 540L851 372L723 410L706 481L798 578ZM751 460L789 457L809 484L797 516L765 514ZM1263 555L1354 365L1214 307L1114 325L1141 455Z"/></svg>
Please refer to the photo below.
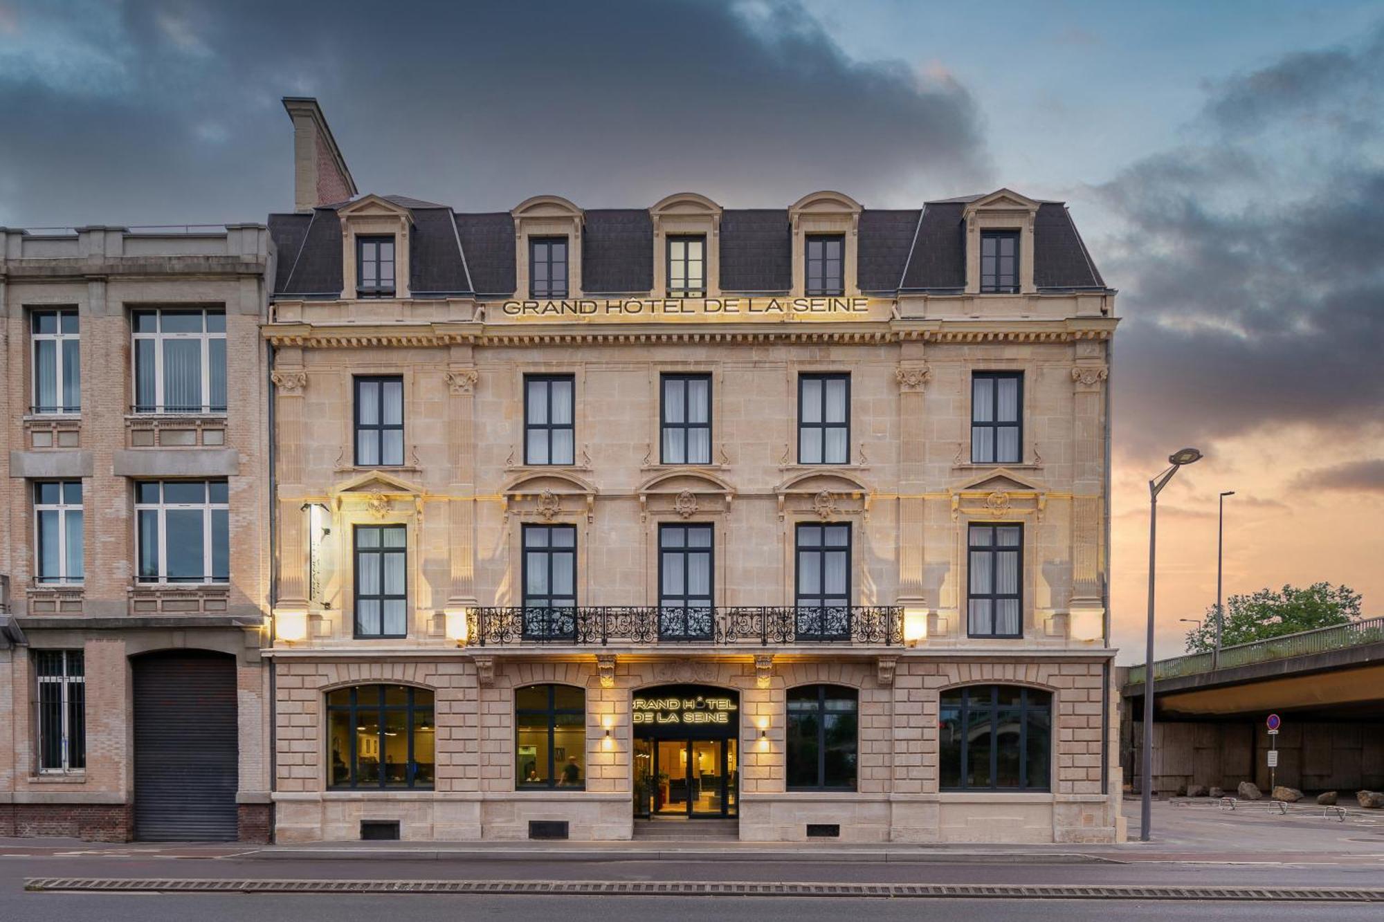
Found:
<svg viewBox="0 0 1384 922"><path fill-rule="evenodd" d="M338 688L327 694L327 725L328 786L433 786L437 723L426 688Z"/></svg>

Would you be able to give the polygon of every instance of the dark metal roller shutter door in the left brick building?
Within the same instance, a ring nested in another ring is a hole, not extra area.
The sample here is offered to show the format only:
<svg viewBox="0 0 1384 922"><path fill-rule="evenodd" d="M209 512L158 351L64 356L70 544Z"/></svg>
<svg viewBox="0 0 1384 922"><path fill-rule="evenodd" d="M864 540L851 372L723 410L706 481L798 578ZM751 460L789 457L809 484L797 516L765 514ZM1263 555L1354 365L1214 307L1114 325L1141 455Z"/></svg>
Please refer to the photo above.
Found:
<svg viewBox="0 0 1384 922"><path fill-rule="evenodd" d="M233 842L235 658L149 653L133 671L136 839Z"/></svg>

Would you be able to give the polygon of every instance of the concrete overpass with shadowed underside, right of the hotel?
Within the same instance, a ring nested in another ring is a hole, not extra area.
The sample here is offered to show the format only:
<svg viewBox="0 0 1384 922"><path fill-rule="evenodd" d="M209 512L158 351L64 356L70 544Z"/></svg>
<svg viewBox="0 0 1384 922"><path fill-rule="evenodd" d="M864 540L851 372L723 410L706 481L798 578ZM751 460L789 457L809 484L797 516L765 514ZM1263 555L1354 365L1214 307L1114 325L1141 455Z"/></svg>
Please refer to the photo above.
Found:
<svg viewBox="0 0 1384 922"><path fill-rule="evenodd" d="M1145 667L1122 670L1121 763L1139 778ZM1384 617L1154 663L1154 790L1269 784L1264 725L1283 718L1276 781L1384 788Z"/></svg>

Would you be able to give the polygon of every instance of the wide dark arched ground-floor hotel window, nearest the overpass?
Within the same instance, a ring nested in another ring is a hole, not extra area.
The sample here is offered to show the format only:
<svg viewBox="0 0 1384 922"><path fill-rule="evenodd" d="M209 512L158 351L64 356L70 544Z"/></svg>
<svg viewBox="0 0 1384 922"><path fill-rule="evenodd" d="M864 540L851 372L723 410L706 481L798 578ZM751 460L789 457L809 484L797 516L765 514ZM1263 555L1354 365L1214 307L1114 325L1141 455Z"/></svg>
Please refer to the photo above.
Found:
<svg viewBox="0 0 1384 922"><path fill-rule="evenodd" d="M1017 685L970 685L941 695L943 790L1048 790L1052 695Z"/></svg>

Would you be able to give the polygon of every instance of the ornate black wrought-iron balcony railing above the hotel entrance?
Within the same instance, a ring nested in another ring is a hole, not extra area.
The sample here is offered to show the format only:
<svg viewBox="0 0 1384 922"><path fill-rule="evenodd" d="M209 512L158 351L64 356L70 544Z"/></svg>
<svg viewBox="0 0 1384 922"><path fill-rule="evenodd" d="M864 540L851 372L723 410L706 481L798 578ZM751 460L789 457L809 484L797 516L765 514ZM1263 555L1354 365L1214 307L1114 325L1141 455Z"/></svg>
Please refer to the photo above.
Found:
<svg viewBox="0 0 1384 922"><path fill-rule="evenodd" d="M473 609L468 629L468 642L476 647L519 644L895 647L904 642L904 609L898 605L508 606Z"/></svg>

